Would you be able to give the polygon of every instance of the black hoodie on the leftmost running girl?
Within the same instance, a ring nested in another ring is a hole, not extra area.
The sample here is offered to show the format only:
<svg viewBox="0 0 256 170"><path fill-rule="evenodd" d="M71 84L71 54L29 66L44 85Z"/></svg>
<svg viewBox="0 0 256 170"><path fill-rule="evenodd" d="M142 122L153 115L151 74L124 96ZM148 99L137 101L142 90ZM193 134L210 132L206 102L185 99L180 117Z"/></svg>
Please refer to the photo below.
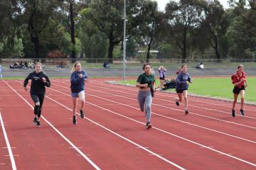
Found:
<svg viewBox="0 0 256 170"><path fill-rule="evenodd" d="M46 78L46 83L43 82L42 78ZM50 87L50 80L44 72L31 72L26 77L23 86L25 87L28 84L28 80L31 79L31 94L46 94L46 87Z"/></svg>

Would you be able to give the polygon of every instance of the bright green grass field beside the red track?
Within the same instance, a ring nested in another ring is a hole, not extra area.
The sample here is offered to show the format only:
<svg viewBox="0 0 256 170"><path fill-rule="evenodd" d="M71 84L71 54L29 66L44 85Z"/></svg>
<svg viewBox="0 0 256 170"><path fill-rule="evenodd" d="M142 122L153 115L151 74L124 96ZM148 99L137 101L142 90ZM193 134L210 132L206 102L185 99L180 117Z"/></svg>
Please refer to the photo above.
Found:
<svg viewBox="0 0 256 170"><path fill-rule="evenodd" d="M122 84L136 84L136 80L119 81ZM253 90L256 86L256 77L247 77L249 86L245 91L245 101L256 102L256 91ZM159 85L159 80L156 80L156 86ZM174 91L175 89L169 89ZM194 78L193 84L189 85L188 93L199 96L209 96L214 98L233 99L233 84L229 77L223 78Z"/></svg>

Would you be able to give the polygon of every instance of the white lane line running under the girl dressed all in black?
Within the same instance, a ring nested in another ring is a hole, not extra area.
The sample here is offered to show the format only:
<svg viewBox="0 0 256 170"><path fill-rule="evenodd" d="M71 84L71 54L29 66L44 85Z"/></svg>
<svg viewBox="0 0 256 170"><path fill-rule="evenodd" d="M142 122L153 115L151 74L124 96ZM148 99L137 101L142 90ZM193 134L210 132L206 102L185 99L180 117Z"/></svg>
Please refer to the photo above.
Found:
<svg viewBox="0 0 256 170"><path fill-rule="evenodd" d="M6 81L4 81L4 82L5 82L5 83L7 84L7 86L9 86L16 94L18 94L18 92L17 92L15 89L13 89ZM21 96L20 94L18 94L18 96L20 96L20 97L23 99L23 101L25 101L25 102L28 104L28 106L30 106L30 107L33 109L33 106L31 106L31 104L28 103L28 101L26 101L26 99L23 98L23 96ZM89 159L84 153L82 153L82 151L81 151L80 149L78 149L78 147L76 147L76 146L73 144L73 142L71 142L70 140L68 140L68 138L65 137L65 136L64 136L57 128L55 128L48 120L46 120L46 118L44 118L43 116L41 116L41 118L43 118L43 120L45 120L46 123L48 123L48 125L50 125L50 127L53 128L53 130L55 130L61 137L63 137L63 139L64 139L65 141L67 141L72 147L74 147L75 150L76 150L79 154L81 154L82 157L84 157L84 158L87 160L87 162L89 162L95 169L100 170L100 168L99 168L94 162L92 162L91 159Z"/></svg>

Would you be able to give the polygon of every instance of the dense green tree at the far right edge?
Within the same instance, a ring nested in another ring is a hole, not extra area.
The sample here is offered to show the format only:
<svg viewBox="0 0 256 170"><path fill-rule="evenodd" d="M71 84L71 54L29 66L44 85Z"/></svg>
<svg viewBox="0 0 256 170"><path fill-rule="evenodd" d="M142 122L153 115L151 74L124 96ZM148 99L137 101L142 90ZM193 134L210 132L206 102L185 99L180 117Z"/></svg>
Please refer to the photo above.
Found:
<svg viewBox="0 0 256 170"><path fill-rule="evenodd" d="M231 3L232 2L232 3ZM245 8L250 2L250 8ZM230 56L234 58L254 58L256 54L256 11L252 1L230 1L233 10L229 13L230 26L228 40Z"/></svg>

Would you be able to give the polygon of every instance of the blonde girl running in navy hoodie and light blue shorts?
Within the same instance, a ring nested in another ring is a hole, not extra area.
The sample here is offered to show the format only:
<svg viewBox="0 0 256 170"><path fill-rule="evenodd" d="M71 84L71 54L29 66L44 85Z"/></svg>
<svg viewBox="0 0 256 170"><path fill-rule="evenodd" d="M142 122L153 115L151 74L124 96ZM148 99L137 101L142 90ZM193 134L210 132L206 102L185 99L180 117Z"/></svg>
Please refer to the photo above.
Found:
<svg viewBox="0 0 256 170"><path fill-rule="evenodd" d="M73 98L73 124L77 124L75 112L76 108L78 106L78 100L79 97L81 106L80 106L80 117L84 118L85 114L82 111L82 108L85 104L85 81L87 81L87 74L84 70L82 70L80 62L76 62L74 64L73 69L75 70L70 77L70 89L71 89L71 96Z"/></svg>

